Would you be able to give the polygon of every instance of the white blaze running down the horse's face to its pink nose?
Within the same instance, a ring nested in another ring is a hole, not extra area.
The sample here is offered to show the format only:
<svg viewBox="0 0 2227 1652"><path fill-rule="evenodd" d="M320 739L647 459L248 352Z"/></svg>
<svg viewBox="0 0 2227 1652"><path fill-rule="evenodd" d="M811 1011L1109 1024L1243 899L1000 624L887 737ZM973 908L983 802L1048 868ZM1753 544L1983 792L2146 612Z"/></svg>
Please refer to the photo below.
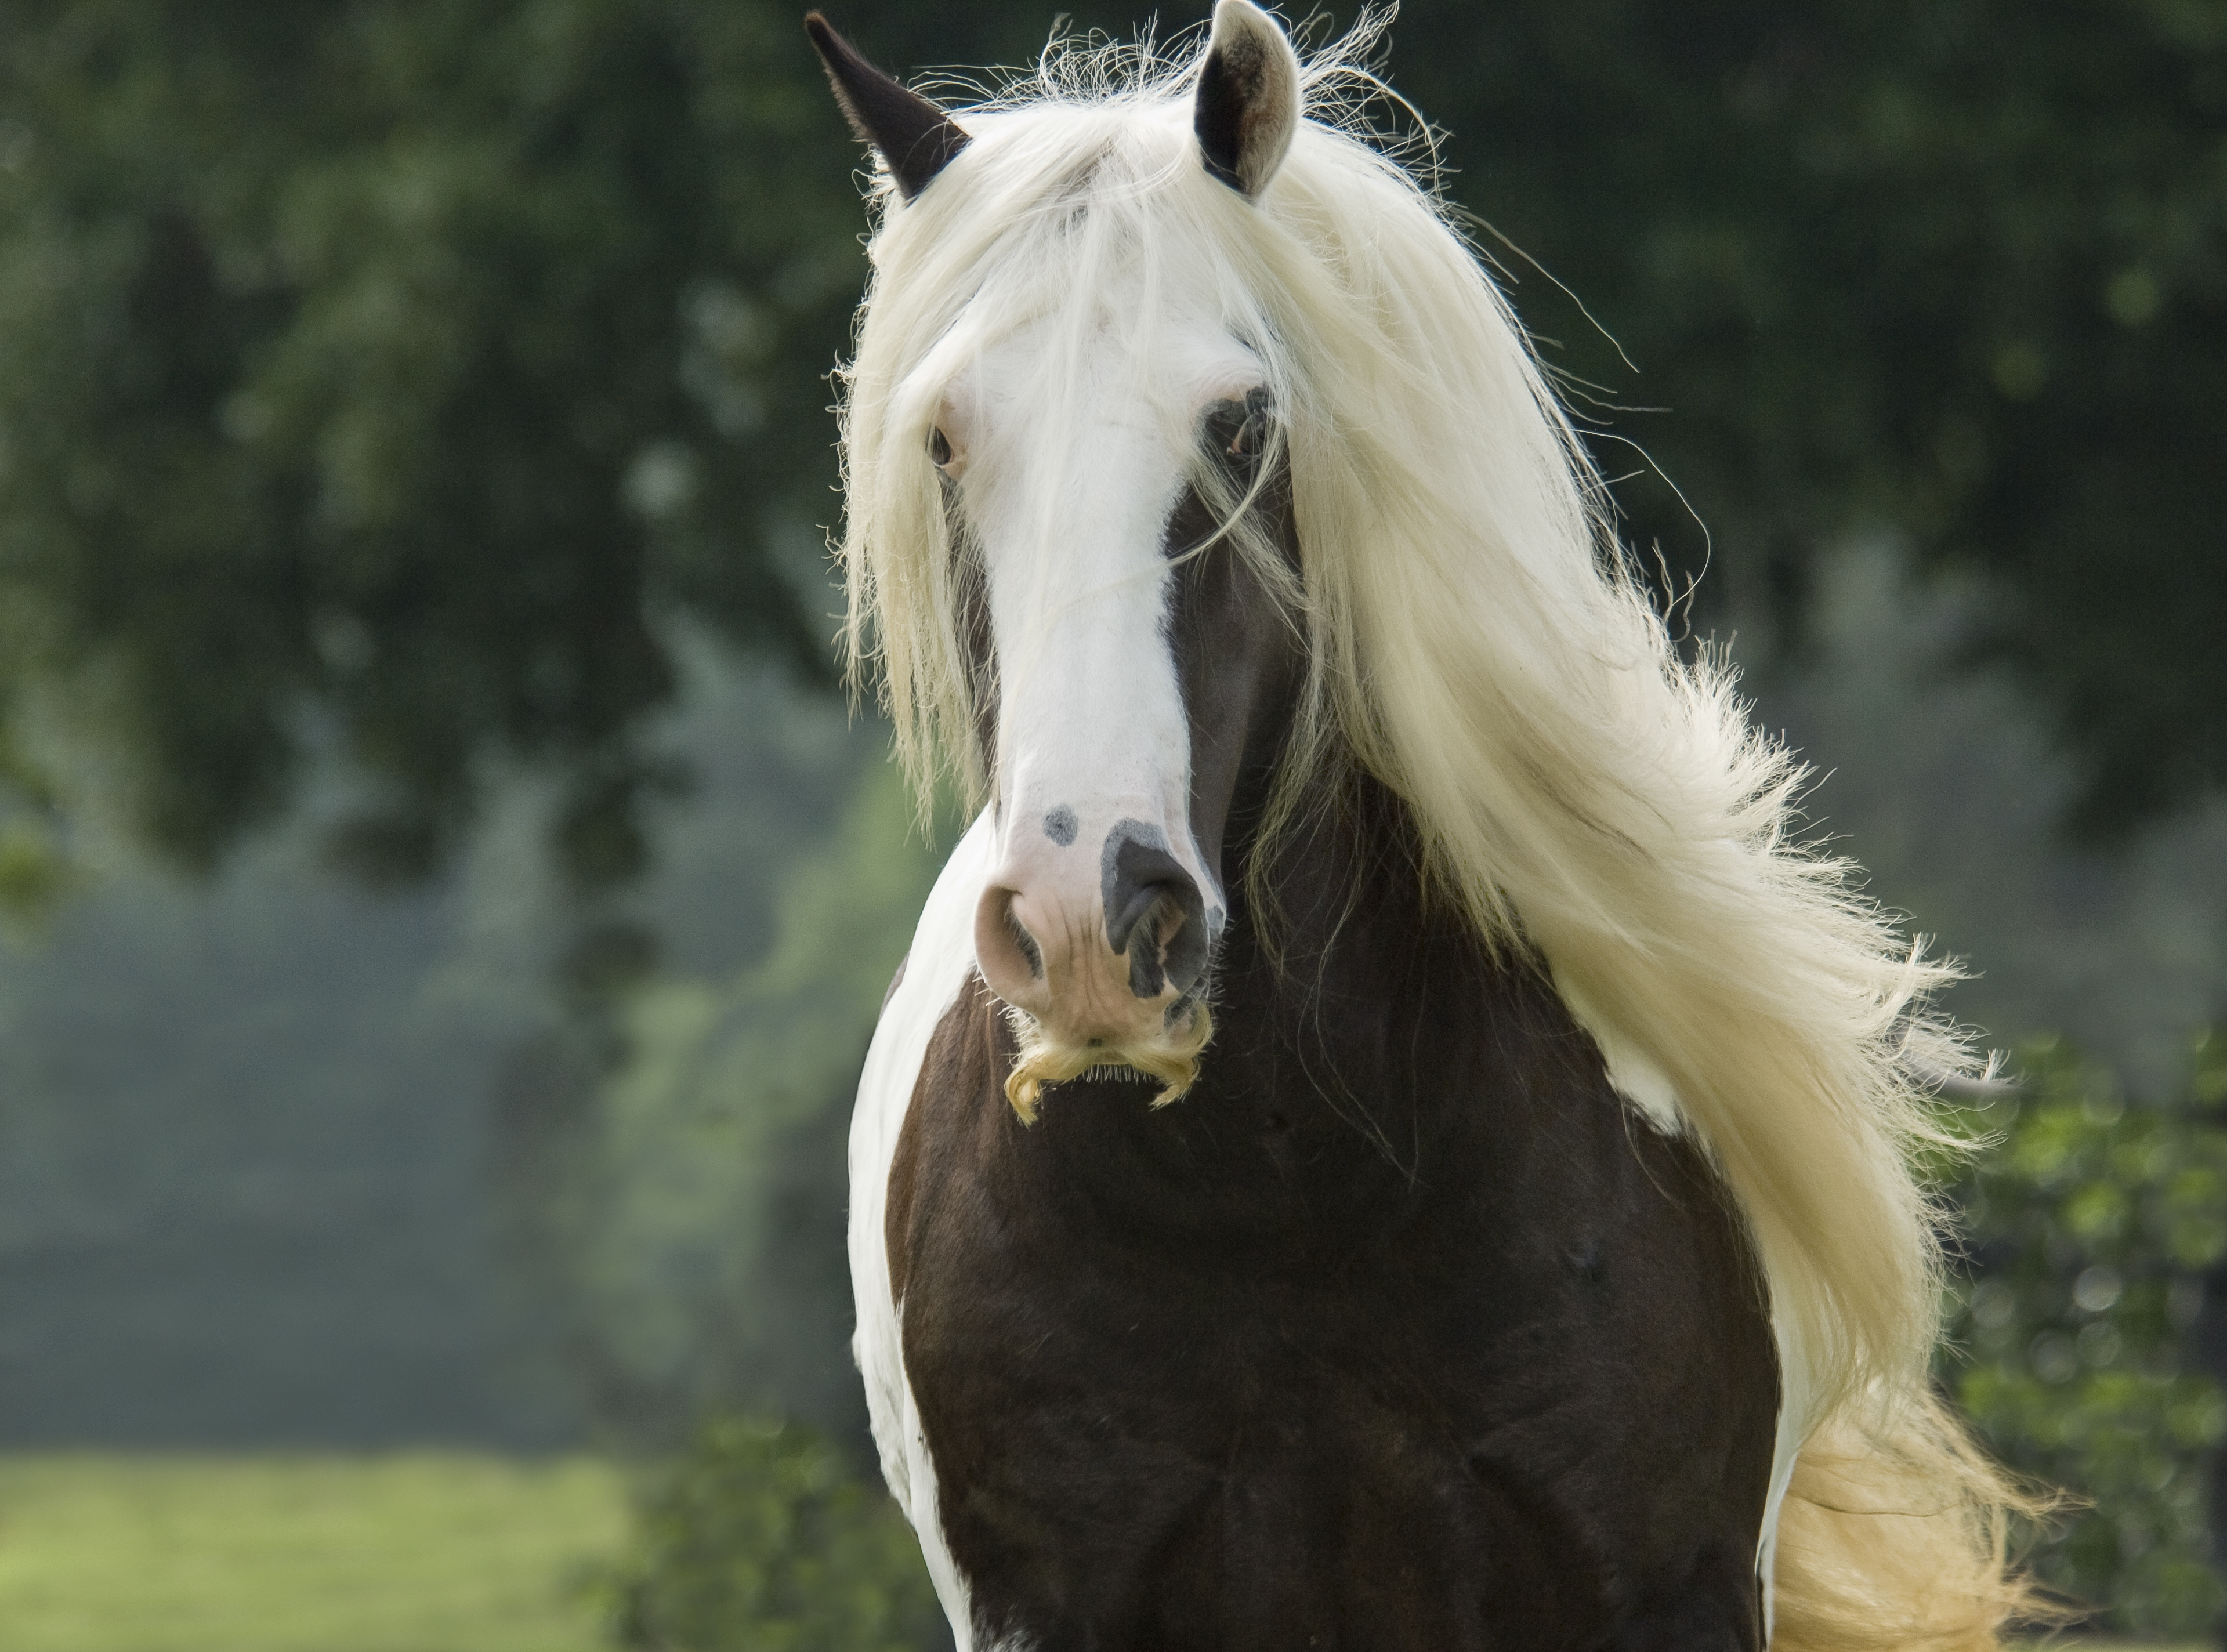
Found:
<svg viewBox="0 0 2227 1652"><path fill-rule="evenodd" d="M1220 926L1220 882L1189 822L1162 541L1200 412L1258 378L1220 330L1183 327L1145 350L1131 321L1020 327L967 358L940 403L998 655L989 886L1011 891L1044 968L1040 989L1007 968L1007 995L1093 1038L1142 1013L1107 948L1116 828L1158 839L1198 884L1209 931ZM1024 1002L1031 991L1038 1002Z"/></svg>

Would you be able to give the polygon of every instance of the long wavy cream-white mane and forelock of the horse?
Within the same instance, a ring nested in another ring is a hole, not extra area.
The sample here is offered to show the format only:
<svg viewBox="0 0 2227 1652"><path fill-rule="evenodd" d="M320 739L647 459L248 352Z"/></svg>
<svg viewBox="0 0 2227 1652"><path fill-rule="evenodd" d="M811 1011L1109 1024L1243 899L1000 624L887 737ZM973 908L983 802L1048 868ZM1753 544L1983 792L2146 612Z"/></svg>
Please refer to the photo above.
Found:
<svg viewBox="0 0 2227 1652"><path fill-rule="evenodd" d="M1543 960L1619 1084L1713 1153L1770 1287L1793 1438L1891 1443L1895 1496L1929 1487L1969 1527L1953 1590L1993 1587L2000 1616L2015 1498L1926 1387L1940 1260L1911 1160L1944 1138L1909 1073L1964 1064L1926 1009L1949 971L1793 839L1802 770L1750 730L1721 661L1672 648L1505 298L1363 127L1379 27L1307 65L1307 120L1258 203L1198 163L1198 53L1149 45L1053 42L958 114L973 142L918 200L882 183L844 401L853 681L877 681L924 790L949 770L984 797L969 548L922 461L942 385L1036 323L1053 394L1080 396L1062 336L1140 314L1151 350L1176 294L1211 294L1289 450L1285 599L1314 668L1285 822L1341 766L1405 802L1485 942Z"/></svg>

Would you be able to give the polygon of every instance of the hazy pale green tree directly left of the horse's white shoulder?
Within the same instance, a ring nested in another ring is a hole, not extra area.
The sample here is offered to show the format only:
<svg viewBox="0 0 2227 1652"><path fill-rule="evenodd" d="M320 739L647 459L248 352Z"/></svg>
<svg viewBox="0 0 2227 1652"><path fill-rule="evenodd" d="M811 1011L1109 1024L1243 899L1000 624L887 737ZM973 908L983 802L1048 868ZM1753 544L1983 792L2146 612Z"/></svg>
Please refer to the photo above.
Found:
<svg viewBox="0 0 2227 1652"><path fill-rule="evenodd" d="M869 761L782 868L764 960L624 995L617 1062L543 1189L608 1425L666 1443L742 1407L864 1436L844 1138L938 864L900 773Z"/></svg>

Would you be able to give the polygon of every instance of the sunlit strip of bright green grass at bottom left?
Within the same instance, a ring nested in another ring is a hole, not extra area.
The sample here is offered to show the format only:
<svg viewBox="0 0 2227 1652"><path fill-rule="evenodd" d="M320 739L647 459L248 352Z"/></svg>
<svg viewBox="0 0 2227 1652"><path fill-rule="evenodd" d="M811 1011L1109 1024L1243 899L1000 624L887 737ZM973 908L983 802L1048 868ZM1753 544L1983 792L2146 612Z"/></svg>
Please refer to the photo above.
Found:
<svg viewBox="0 0 2227 1652"><path fill-rule="evenodd" d="M7 1652L597 1652L599 1463L0 1456Z"/></svg>

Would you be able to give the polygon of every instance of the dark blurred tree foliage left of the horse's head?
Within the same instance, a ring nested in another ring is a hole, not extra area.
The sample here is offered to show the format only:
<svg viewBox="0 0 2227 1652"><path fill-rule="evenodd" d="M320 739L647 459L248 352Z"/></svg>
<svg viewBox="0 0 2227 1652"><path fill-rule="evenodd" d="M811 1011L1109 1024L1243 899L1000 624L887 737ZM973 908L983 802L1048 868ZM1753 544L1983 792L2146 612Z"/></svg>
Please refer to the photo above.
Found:
<svg viewBox="0 0 2227 1652"><path fill-rule="evenodd" d="M661 606L824 675L777 543L824 514L862 260L793 36L737 0L0 11L7 670L131 757L156 846L212 864L339 750L336 853L416 875L512 759L608 886L675 779Z"/></svg>

